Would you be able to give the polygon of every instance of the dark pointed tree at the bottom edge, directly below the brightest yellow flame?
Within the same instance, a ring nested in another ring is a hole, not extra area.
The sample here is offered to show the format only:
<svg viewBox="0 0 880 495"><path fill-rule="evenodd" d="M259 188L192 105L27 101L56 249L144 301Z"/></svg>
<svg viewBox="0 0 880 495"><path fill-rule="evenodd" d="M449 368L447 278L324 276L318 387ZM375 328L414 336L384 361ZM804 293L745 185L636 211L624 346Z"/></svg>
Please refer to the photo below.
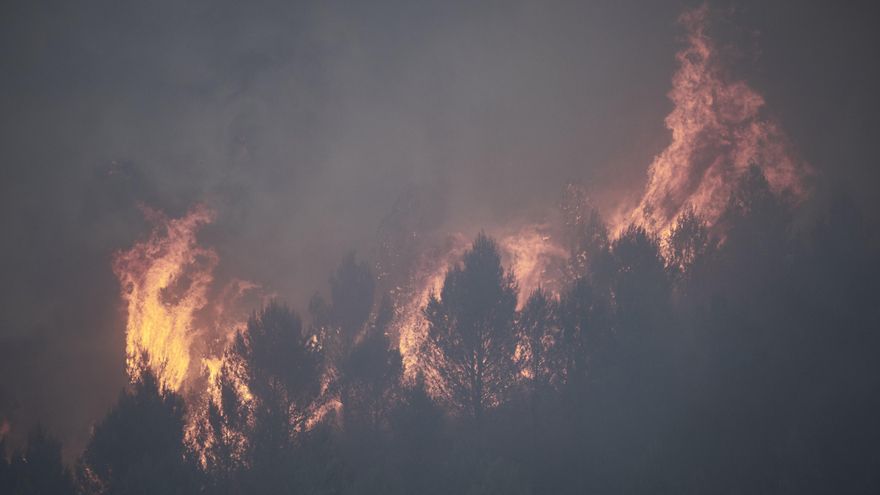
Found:
<svg viewBox="0 0 880 495"><path fill-rule="evenodd" d="M145 368L95 427L83 454L84 479L104 494L189 494L196 463L184 444L183 399L160 390Z"/></svg>

